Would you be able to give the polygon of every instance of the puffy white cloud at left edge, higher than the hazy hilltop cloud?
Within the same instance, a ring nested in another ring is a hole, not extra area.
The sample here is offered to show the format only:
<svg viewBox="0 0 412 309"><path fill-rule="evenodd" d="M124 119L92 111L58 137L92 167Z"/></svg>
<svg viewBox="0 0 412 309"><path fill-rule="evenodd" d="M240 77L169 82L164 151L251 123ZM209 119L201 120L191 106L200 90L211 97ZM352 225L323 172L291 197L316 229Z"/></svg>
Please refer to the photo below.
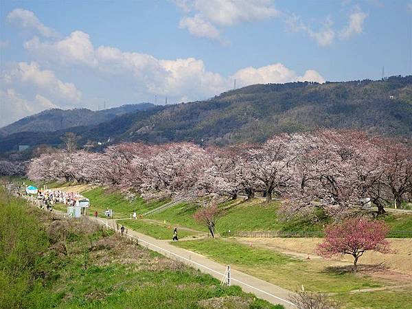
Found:
<svg viewBox="0 0 412 309"><path fill-rule="evenodd" d="M82 93L70 82L62 82L53 71L41 70L36 62L19 62L10 71L1 73L1 80L7 84L32 84L55 98L76 104L80 102Z"/></svg>

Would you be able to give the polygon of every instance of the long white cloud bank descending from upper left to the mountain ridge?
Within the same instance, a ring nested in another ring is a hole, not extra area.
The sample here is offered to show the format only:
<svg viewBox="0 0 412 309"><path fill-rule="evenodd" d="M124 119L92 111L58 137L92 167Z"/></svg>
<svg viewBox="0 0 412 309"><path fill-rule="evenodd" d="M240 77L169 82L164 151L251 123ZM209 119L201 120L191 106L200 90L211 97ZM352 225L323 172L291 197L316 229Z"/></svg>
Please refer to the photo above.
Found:
<svg viewBox="0 0 412 309"><path fill-rule="evenodd" d="M87 65L98 75L103 74L111 79L133 80L133 84L139 87L139 91L143 93L168 95L176 100L208 98L231 87L231 78L207 71L203 60L195 58L163 60L148 54L122 52L115 47L100 46L94 48L89 41L89 36L87 34L82 36L86 39L79 41L76 48L87 50L87 57L73 56L71 45L62 44L73 37L73 34L54 44L41 43L37 38L36 49L31 50L34 50L41 59L49 55L60 54L59 63ZM82 44L85 47L82 47ZM65 46L69 51L62 49L62 46ZM84 58L88 60L84 61ZM238 75L240 82L244 85L258 82L290 82L304 78L324 82L319 73L318 75L313 73L316 71L308 72L304 77L299 77L284 65L276 64L258 69L245 68L238 71L235 76Z"/></svg>

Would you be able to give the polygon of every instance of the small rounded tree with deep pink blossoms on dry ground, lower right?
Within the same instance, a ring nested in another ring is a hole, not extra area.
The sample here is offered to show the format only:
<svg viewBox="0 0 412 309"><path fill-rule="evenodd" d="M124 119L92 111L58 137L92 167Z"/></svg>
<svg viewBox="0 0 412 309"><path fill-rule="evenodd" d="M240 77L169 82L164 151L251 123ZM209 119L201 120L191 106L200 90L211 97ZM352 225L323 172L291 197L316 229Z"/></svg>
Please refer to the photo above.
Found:
<svg viewBox="0 0 412 309"><path fill-rule="evenodd" d="M352 218L325 229L325 239L317 247L317 253L324 258L333 255L350 254L354 257L356 273L358 259L369 250L380 253L391 252L385 239L389 228L383 221Z"/></svg>

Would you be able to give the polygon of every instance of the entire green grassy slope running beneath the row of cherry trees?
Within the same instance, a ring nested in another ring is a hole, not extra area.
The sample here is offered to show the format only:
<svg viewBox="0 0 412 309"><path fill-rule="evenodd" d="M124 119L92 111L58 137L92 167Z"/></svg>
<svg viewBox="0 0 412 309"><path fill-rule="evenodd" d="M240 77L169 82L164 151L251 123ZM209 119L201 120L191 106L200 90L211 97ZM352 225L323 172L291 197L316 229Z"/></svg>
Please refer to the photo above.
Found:
<svg viewBox="0 0 412 309"><path fill-rule="evenodd" d="M25 179L19 179L25 181ZM48 183L48 187L58 187L58 183ZM120 192L108 192L102 187L96 187L93 190L83 192L83 195L90 199L91 208L89 215L98 211L98 216L104 217L104 211L107 207L113 209L114 218L129 218L133 211L137 214L159 207L168 201L157 201L146 203L143 198L137 196L133 203L127 201ZM229 201L219 205L220 216L216 221L216 230L220 235L228 235L235 231L285 231L285 232L303 232L315 233L313 236L321 236L323 225L330 222L322 214L318 214L319 223L314 224L310 218L296 218L288 222L279 220L278 209L279 201L273 201L270 204L262 202L260 199L253 201ZM64 205L56 205L56 209L65 211ZM166 209L160 213L150 214L147 218L166 222L173 226L189 227L198 231L207 232L207 228L196 222L193 214L196 211L196 205L192 203L179 203L178 205ZM400 238L410 237L412 232L412 214L393 214L388 213L381 220L385 220L391 231L408 231L407 234L389 233L389 237ZM150 227L147 227L150 230ZM161 233L161 232L159 232ZM318 234L319 233L319 234ZM312 234L310 234L312 236ZM164 236L160 236L164 237Z"/></svg>

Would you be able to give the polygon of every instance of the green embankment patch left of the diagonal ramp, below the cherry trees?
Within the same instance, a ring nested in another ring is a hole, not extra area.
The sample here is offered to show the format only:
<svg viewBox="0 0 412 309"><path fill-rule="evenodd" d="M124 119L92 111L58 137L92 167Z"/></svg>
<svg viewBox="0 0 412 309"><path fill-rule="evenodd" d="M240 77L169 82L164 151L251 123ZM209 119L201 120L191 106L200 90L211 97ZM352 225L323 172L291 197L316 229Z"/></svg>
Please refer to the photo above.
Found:
<svg viewBox="0 0 412 309"><path fill-rule="evenodd" d="M168 202L165 200L146 203L140 196L137 196L135 201L130 202L120 192L108 192L102 187L96 187L82 194L90 200L89 215L92 216L94 211L98 211L100 217L104 217L104 211L107 208L113 209L113 218L129 218L133 211L136 211L137 214L143 214Z"/></svg>

